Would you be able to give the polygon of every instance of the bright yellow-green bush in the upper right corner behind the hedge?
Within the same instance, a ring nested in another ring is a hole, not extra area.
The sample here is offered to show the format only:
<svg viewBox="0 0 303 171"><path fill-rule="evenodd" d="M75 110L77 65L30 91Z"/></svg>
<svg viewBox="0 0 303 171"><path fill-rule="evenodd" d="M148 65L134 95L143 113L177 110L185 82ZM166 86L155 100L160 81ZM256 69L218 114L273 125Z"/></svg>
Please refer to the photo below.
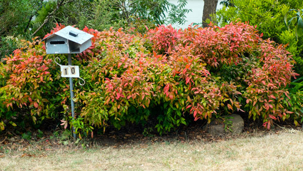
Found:
<svg viewBox="0 0 303 171"><path fill-rule="evenodd" d="M295 71L300 75L303 74L303 37L297 39L296 30L298 27L290 26L288 29L284 23L284 20L287 22L290 20L292 22L297 21L301 14L297 16L297 12L289 12L289 10L303 9L301 0L231 0L225 1L225 5L227 7L223 7L214 16L219 26L237 20L248 21L250 25L257 25L257 29L264 34L264 38L271 38L278 44L288 45L286 50L293 55L293 59L296 61ZM289 15L286 15L288 13ZM293 19L294 16L298 18ZM288 25L290 24L288 23Z"/></svg>

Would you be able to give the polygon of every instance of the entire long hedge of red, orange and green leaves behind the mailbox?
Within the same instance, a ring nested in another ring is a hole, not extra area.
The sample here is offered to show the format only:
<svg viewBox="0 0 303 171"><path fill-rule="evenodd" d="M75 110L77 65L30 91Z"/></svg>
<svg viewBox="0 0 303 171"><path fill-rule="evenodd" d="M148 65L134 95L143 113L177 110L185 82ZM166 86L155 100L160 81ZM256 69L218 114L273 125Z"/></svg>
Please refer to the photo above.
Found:
<svg viewBox="0 0 303 171"><path fill-rule="evenodd" d="M94 37L89 49L73 57L86 80L74 87L76 117L69 108L68 80L52 62L55 55L46 55L44 43L34 39L1 63L2 130L20 120L57 118L79 135L129 123L163 134L190 120L237 111L261 119L268 129L275 120L297 124L302 118L302 94L288 91L297 75L290 53L262 39L254 26L83 31ZM66 55L56 57L67 64Z"/></svg>

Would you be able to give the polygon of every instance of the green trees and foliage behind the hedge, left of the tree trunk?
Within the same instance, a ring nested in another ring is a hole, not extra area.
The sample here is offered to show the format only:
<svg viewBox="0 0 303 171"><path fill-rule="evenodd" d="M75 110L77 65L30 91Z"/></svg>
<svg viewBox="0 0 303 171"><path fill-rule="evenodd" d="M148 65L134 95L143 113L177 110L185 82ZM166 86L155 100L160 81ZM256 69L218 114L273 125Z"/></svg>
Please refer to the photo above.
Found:
<svg viewBox="0 0 303 171"><path fill-rule="evenodd" d="M187 2L177 5L167 0L17 0L0 1L0 60L20 48L20 39L43 37L55 24L84 26L98 30L155 27L164 23L184 23Z"/></svg>

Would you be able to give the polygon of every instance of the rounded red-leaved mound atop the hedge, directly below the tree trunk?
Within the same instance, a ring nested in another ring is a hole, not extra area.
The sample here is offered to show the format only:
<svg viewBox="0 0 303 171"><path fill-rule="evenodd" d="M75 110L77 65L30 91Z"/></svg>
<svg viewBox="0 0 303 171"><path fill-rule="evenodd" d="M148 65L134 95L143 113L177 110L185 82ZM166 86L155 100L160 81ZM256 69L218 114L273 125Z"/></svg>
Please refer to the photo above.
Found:
<svg viewBox="0 0 303 171"><path fill-rule="evenodd" d="M184 30L182 41L190 44L193 53L212 67L237 64L239 54L251 53L258 46L257 30L244 23L230 23L225 27L195 28Z"/></svg>

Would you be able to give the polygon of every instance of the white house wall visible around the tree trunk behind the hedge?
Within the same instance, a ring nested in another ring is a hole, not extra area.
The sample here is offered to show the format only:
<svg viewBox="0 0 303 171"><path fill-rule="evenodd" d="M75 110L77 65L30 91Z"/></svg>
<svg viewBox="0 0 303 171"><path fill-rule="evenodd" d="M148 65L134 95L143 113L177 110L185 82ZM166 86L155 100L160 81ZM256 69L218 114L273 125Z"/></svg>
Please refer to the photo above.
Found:
<svg viewBox="0 0 303 171"><path fill-rule="evenodd" d="M220 2L223 0L218 1L217 10L222 8ZM169 0L170 3L178 5L178 0ZM191 23L201 23L202 16L203 16L203 7L204 1L203 0L187 0L187 5L185 9L191 9L192 11L186 14L186 22L183 25L173 24L175 28L187 28L188 25Z"/></svg>

